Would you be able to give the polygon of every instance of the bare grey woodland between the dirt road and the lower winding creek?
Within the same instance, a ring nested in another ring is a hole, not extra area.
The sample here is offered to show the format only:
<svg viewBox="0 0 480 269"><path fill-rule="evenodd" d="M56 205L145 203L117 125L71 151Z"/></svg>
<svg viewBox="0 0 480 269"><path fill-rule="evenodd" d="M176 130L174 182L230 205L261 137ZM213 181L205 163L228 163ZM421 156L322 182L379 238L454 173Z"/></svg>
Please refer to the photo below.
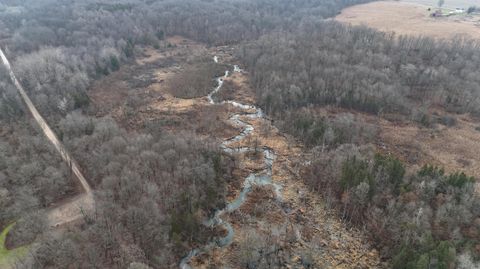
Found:
<svg viewBox="0 0 480 269"><path fill-rule="evenodd" d="M201 222L224 201L233 162L189 134L127 134L111 119L69 114L64 142L96 189L82 231L36 246L33 268L175 267L178 254L208 239ZM57 253L57 250L62 253Z"/></svg>

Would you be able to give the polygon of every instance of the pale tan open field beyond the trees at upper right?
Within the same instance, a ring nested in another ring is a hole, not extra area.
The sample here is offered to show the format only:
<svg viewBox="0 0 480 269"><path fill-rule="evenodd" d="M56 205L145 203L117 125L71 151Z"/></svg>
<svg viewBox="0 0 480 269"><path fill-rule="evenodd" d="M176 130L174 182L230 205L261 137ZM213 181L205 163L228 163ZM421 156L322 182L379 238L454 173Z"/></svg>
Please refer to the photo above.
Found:
<svg viewBox="0 0 480 269"><path fill-rule="evenodd" d="M353 25L366 25L399 35L453 38L480 38L480 15L430 17L428 6L398 1L376 1L342 10L335 20Z"/></svg>

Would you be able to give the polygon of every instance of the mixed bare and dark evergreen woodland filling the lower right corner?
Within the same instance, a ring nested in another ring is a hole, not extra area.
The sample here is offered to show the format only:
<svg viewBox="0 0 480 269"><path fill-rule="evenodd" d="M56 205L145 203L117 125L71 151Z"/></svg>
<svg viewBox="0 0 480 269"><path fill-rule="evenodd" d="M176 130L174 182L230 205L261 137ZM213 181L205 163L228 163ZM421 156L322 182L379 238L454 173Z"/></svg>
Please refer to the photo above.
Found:
<svg viewBox="0 0 480 269"><path fill-rule="evenodd" d="M318 152L304 172L345 221L370 232L393 268L473 268L469 255L478 257L480 240L473 177L431 165L407 173L395 157L352 144Z"/></svg>

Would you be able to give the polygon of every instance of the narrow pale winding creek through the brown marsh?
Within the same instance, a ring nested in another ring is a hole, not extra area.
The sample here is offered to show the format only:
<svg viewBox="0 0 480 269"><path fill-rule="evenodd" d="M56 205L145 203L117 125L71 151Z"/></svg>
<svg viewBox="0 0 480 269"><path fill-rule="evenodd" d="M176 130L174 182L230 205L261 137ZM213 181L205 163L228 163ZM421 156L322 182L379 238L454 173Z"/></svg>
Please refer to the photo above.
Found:
<svg viewBox="0 0 480 269"><path fill-rule="evenodd" d="M215 56L213 58L213 60L214 60L215 63L218 63L218 57L217 56ZM242 72L242 70L237 65L234 65L233 66L233 72ZM222 144L221 144L221 148L222 148L223 151L225 151L226 153L229 153L229 154L245 153L245 152L255 151L254 148L250 148L250 147L233 148L233 147L231 147L231 145L235 142L242 141L243 139L245 139L245 137L247 137L249 134L251 134L252 132L255 131L255 128L251 124L243 121L241 118L242 117L247 117L247 118L250 118L250 119L262 119L262 118L264 118L264 114L263 114L262 110L260 108L256 107L256 106L241 104L241 103L236 102L236 101L229 100L229 101L216 102L213 99L213 96L221 90L221 88L223 86L224 79L226 79L229 75L230 75L230 72L227 70L227 71L225 71L225 75L217 78L216 79L217 86L207 96L210 104L229 104L229 105L232 105L234 107L237 107L237 108L240 108L241 110L243 110L242 113L236 113L229 118L229 121L233 125L242 128L242 131L237 136L223 141ZM205 220L204 223L203 223L205 226L212 227L212 228L221 226L227 231L227 235L224 236L224 237L215 237L209 243L207 243L205 246L203 246L201 248L196 248L196 249L191 250L188 253L188 255L185 256L181 260L181 262L180 262L180 268L181 269L191 269L192 267L189 264L194 257L196 257L196 256L198 256L202 253L207 253L211 249L213 249L214 247L226 247L233 242L233 237L235 235L235 231L234 231L232 225L230 223L224 221L221 217L226 213L231 213L231 212L237 210L238 208L240 208L244 204L244 202L247 198L247 195L252 191L253 186L255 186L255 185L257 185L257 186L271 186L271 187L273 187L273 189L275 191L276 198L278 200L281 200L281 198L282 198L281 197L282 186L280 186L278 184L275 184L272 181L272 166L273 166L273 162L274 162L275 157L276 157L275 152L272 149L267 148L267 147L262 148L262 150L263 150L263 159L264 159L264 164L265 164L264 169L262 171L258 172L258 173L249 174L245 178L245 180L243 182L243 185L242 185L242 190L240 191L238 196L234 200L228 202L224 208L215 211L213 216L210 219Z"/></svg>

